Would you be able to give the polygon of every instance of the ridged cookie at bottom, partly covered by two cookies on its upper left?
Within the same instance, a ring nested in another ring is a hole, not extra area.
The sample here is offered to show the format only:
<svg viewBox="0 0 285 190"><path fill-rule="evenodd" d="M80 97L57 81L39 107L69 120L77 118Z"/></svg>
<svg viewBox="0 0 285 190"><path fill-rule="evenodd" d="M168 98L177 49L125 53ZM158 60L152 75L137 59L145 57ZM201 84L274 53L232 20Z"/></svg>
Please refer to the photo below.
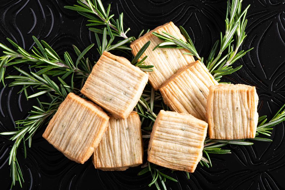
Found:
<svg viewBox="0 0 285 190"><path fill-rule="evenodd" d="M93 154L95 168L123 171L143 163L141 120L133 111L127 119L110 117L109 127Z"/></svg>

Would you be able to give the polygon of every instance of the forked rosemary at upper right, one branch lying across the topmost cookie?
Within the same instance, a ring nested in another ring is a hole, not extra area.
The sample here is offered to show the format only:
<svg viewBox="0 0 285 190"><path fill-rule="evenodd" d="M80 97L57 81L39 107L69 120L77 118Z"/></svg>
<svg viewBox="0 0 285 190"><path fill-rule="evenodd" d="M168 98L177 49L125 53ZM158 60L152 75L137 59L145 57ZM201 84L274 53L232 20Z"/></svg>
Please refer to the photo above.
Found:
<svg viewBox="0 0 285 190"><path fill-rule="evenodd" d="M242 65L232 68L232 64L238 60L239 58L243 57L248 51L252 50L241 50L238 52L243 40L247 36L245 34L245 26L247 24L247 19L245 19L247 9L250 5L248 5L245 10L241 11L241 3L242 0L232 0L230 2L227 1L227 13L226 13L226 27L225 27L225 34L223 35L221 32L221 39L217 40L214 46L211 49L209 57L205 63L210 73L214 76L215 80L220 81L223 75L229 75L234 73L235 71L239 70ZM186 30L180 26L181 33L186 38L186 42L183 40L167 33L163 32L165 35L158 34L156 32L152 32L153 35L157 36L158 38L164 40L161 44L158 44L154 50L159 48L185 48L190 51L190 53L184 53L196 56L198 60L203 62L203 57L200 57L194 44L186 32ZM233 40L233 36L235 40ZM232 44L236 42L235 47ZM220 44L220 48L219 47ZM227 53L225 52L227 50ZM217 55L216 55L217 54ZM216 56L215 56L216 55ZM223 56L222 56L223 55Z"/></svg>

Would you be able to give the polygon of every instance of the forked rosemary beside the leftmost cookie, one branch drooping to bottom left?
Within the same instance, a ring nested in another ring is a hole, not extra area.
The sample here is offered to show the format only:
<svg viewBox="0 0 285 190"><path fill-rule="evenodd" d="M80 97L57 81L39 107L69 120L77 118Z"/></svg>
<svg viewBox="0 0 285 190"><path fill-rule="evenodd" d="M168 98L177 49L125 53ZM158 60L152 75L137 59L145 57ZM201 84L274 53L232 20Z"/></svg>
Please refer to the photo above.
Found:
<svg viewBox="0 0 285 190"><path fill-rule="evenodd" d="M16 68L16 67L15 67ZM48 122L51 117L56 113L60 103L65 99L68 93L74 91L78 93L80 90L68 86L60 77L58 77L60 86L58 86L54 81L52 81L47 75L42 74L43 77L40 77L36 73L31 72L28 74L27 72L16 68L21 74L25 76L9 76L7 78L13 78L13 81L9 86L15 85L24 85L23 90L27 88L27 86L32 85L40 90L38 93L28 96L27 98L37 97L42 94L47 94L51 102L40 102L38 99L39 106L33 106L34 110L29 112L29 116L27 119L18 120L15 122L17 125L16 131L11 132L3 132L0 135L13 135L10 140L15 141L12 149L10 151L9 156L9 165L11 165L11 178L12 185L15 185L15 181L19 181L20 186L22 187L23 174L21 171L21 167L19 166L19 162L17 161L17 148L20 143L23 142L24 145L24 156L26 158L26 145L25 142L28 140L28 146L31 147L32 136L36 133L38 128L40 128L44 123ZM25 86L27 85L27 86ZM52 95L54 93L55 95ZM27 96L27 95L26 95Z"/></svg>

